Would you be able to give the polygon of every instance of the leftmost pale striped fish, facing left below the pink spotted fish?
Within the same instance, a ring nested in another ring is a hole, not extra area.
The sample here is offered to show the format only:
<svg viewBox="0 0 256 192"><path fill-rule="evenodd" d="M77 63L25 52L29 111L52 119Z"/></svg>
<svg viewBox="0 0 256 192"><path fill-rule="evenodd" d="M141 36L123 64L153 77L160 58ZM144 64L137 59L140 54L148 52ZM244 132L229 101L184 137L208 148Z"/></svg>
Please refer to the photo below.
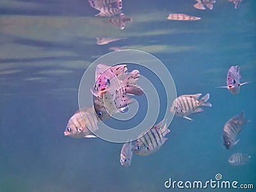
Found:
<svg viewBox="0 0 256 192"><path fill-rule="evenodd" d="M97 122L99 122L99 118L93 107L78 110L68 120L64 135L72 138L96 138L90 130L97 131L99 129Z"/></svg>

